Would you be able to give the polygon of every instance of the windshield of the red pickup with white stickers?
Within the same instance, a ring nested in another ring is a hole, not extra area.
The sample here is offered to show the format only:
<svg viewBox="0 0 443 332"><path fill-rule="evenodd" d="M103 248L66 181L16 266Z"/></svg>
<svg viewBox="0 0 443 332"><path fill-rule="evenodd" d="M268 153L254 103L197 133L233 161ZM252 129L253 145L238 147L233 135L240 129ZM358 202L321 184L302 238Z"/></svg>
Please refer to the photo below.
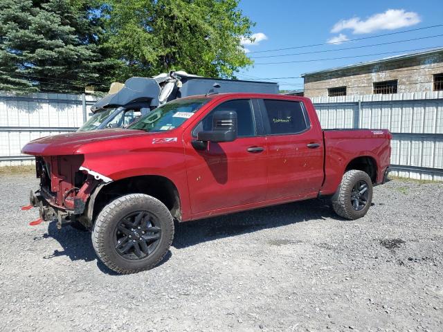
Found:
<svg viewBox="0 0 443 332"><path fill-rule="evenodd" d="M145 131L171 130L191 118L208 101L208 98L174 100L141 117L127 128Z"/></svg>

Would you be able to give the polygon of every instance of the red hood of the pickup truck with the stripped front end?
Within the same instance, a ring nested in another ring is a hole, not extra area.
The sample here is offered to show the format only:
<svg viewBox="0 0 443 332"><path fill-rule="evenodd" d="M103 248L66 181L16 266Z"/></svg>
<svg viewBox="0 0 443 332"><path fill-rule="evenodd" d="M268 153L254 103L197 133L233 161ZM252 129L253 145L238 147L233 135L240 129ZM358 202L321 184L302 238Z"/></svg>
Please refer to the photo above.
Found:
<svg viewBox="0 0 443 332"><path fill-rule="evenodd" d="M61 135L46 136L31 140L21 152L35 156L60 156L75 154L82 145L98 140L112 140L128 136L146 135L146 131L135 129L104 129L98 131L78 131L75 133L63 133Z"/></svg>

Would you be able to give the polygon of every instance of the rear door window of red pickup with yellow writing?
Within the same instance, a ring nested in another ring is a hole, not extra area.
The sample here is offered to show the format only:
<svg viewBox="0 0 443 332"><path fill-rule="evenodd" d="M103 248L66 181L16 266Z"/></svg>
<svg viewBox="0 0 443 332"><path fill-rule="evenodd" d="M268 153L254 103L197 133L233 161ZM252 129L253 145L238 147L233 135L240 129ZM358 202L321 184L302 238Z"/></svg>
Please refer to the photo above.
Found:
<svg viewBox="0 0 443 332"><path fill-rule="evenodd" d="M301 102L264 100L271 135L301 133L309 128L309 120Z"/></svg>

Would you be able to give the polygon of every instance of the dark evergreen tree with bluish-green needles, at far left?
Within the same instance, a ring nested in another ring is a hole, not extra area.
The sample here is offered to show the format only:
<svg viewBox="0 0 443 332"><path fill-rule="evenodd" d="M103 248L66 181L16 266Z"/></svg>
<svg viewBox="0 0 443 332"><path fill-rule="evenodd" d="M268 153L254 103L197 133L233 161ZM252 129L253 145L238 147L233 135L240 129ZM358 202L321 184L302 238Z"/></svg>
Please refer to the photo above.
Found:
<svg viewBox="0 0 443 332"><path fill-rule="evenodd" d="M102 86L96 83L106 67L100 62L100 25L87 6L0 0L0 90L82 92L85 85Z"/></svg>

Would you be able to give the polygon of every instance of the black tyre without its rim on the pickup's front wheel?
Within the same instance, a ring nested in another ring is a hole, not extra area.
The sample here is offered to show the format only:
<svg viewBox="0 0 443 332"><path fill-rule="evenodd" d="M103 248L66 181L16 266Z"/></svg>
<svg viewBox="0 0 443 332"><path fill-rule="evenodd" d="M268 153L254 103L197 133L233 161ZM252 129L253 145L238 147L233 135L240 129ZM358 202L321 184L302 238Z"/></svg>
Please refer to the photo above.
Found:
<svg viewBox="0 0 443 332"><path fill-rule="evenodd" d="M143 259L129 260L120 256L114 247L114 231L127 214L143 210L156 216L161 224L161 239L154 252ZM174 238L174 221L166 206L145 194L127 194L111 201L98 214L92 231L92 244L100 260L111 270L121 274L137 273L153 268L165 257Z"/></svg>

